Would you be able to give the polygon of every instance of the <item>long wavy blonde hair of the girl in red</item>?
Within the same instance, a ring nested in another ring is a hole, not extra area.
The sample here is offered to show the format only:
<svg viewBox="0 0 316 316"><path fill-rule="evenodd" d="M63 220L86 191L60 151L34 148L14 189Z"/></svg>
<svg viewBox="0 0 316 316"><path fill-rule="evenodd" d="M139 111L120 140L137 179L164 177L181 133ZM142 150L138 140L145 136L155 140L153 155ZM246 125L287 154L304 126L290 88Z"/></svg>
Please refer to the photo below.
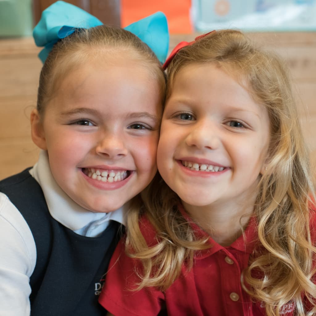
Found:
<svg viewBox="0 0 316 316"><path fill-rule="evenodd" d="M291 300L298 315L314 315L315 248L309 228L313 185L286 68L277 56L257 47L239 31L213 32L185 46L173 58L168 66L167 98L179 71L197 63L215 63L246 79L254 100L269 113L267 170L259 179L254 206L258 240L249 266L242 272L243 289L254 301L265 303L268 316L279 316L282 306ZM128 216L126 249L129 256L143 262L138 289L156 286L165 290L179 276L183 264L190 269L194 253L209 246L206 240L195 239L178 210L179 197L159 175L142 197L145 207ZM147 246L139 229L142 213L157 231L155 246ZM304 310L303 296L311 302L311 311Z"/></svg>

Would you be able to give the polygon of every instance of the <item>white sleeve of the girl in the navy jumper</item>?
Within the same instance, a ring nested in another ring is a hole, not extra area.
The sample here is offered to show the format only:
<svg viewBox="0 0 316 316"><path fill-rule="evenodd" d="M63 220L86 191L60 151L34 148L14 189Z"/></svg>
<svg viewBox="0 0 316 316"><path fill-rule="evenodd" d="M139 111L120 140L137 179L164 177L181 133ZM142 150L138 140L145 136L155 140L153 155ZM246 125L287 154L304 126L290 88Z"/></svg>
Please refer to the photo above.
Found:
<svg viewBox="0 0 316 316"><path fill-rule="evenodd" d="M29 277L36 264L36 247L21 213L0 192L0 315L29 316Z"/></svg>

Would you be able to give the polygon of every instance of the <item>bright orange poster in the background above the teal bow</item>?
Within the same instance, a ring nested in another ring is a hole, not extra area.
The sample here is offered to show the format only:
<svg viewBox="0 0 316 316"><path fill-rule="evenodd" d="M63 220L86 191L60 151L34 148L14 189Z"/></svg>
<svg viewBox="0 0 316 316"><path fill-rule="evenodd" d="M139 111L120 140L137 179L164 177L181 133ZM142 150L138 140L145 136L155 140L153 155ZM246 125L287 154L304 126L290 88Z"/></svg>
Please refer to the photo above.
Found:
<svg viewBox="0 0 316 316"><path fill-rule="evenodd" d="M171 34L192 33L190 9L191 0L121 0L121 26L162 11L167 16Z"/></svg>

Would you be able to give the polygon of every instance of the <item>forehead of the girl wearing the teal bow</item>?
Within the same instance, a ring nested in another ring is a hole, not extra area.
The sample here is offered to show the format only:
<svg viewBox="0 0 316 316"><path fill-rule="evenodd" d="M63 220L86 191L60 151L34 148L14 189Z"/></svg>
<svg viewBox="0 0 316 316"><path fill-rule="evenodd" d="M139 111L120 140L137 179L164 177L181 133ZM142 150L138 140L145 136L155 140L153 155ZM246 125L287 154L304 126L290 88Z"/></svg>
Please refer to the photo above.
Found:
<svg viewBox="0 0 316 316"><path fill-rule="evenodd" d="M73 70L63 79L51 101L48 108L56 113L88 108L124 114L132 106L143 108L142 112L146 112L146 107L149 111L150 106L153 111L161 112L160 89L155 79L130 64L104 68L86 64Z"/></svg>

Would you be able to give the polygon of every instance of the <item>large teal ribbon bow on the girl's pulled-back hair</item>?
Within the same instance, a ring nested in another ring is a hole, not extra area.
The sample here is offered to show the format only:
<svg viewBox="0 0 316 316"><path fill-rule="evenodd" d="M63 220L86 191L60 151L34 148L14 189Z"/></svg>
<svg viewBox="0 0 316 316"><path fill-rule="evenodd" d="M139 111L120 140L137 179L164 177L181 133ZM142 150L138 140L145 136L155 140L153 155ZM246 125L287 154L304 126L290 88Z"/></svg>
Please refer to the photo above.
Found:
<svg viewBox="0 0 316 316"><path fill-rule="evenodd" d="M44 63L53 45L76 29L90 28L103 23L95 16L73 4L57 1L42 12L40 21L34 27L33 37L37 46L44 46L39 53ZM161 63L167 58L169 32L167 18L162 12L156 12L131 25L125 30L138 36L156 54Z"/></svg>

